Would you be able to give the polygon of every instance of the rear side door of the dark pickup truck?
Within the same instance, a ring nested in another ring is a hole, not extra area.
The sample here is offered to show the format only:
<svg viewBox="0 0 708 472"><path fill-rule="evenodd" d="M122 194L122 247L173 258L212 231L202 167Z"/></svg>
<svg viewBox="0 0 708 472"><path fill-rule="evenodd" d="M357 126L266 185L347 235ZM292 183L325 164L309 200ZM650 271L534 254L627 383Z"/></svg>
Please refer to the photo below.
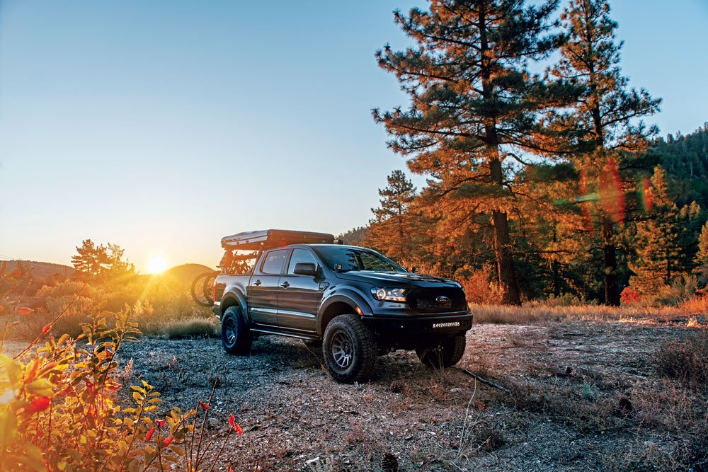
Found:
<svg viewBox="0 0 708 472"><path fill-rule="evenodd" d="M278 326L278 289L287 249L263 254L253 270L248 290L249 314L253 323Z"/></svg>

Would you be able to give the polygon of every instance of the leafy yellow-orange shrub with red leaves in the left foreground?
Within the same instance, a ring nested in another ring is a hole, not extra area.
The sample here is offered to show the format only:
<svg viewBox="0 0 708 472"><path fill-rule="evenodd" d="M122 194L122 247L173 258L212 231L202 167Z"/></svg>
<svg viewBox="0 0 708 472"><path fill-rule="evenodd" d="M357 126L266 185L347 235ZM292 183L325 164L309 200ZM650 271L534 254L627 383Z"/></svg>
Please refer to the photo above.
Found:
<svg viewBox="0 0 708 472"><path fill-rule="evenodd" d="M3 272L0 267L0 295L15 283ZM31 314L17 299L5 298L0 306L3 333L11 311ZM152 418L160 394L142 381L130 387L135 405L120 408L115 404L122 388L114 372L115 356L122 343L135 340L137 323L130 311L98 309L81 323L76 340L66 334L55 340L50 331L71 309L72 304L64 307L15 357L0 354L0 471L162 471L178 463L186 471L201 470L213 444L202 441L210 400L186 413L172 408L166 418ZM242 433L230 415L221 449L212 455L212 469L232 432Z"/></svg>

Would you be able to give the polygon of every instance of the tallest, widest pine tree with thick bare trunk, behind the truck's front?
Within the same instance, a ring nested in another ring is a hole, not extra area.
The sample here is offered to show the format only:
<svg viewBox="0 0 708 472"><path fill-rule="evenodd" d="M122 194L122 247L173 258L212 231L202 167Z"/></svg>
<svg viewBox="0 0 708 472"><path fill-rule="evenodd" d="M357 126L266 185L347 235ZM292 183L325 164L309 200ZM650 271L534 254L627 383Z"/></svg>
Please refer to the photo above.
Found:
<svg viewBox="0 0 708 472"><path fill-rule="evenodd" d="M520 292L509 210L520 195L510 188L513 166L505 161L517 156L512 146L532 145L539 108L532 91L538 84L526 62L546 57L554 47L555 38L546 33L557 4L431 1L430 11L394 13L417 47L394 52L387 46L377 52L379 66L396 74L411 107L374 110L375 120L392 135L389 146L411 156L411 170L432 178L433 201L457 203L463 219L486 215L498 282L511 304L520 304Z"/></svg>

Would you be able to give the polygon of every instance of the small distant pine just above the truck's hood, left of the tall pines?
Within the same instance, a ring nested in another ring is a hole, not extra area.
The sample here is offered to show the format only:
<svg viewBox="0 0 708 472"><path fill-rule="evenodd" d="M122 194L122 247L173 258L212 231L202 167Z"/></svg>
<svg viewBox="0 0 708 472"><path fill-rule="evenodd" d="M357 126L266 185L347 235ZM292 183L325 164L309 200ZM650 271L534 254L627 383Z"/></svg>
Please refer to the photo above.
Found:
<svg viewBox="0 0 708 472"><path fill-rule="evenodd" d="M374 219L369 221L365 244L401 261L411 256L411 220L415 216L409 214L409 207L416 188L403 171L393 171L387 180L386 188L379 189L381 206L371 209Z"/></svg>

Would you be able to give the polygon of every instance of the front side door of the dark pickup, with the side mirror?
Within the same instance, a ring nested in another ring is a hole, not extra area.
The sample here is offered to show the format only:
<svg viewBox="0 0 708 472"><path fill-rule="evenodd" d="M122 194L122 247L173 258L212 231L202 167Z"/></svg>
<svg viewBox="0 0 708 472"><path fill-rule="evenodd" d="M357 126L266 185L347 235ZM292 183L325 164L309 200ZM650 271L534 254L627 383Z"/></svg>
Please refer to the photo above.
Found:
<svg viewBox="0 0 708 472"><path fill-rule="evenodd" d="M317 330L317 311L322 301L324 284L320 277L296 275L295 264L319 261L309 249L295 248L290 255L285 275L280 277L278 294L278 324L280 328L315 333Z"/></svg>

